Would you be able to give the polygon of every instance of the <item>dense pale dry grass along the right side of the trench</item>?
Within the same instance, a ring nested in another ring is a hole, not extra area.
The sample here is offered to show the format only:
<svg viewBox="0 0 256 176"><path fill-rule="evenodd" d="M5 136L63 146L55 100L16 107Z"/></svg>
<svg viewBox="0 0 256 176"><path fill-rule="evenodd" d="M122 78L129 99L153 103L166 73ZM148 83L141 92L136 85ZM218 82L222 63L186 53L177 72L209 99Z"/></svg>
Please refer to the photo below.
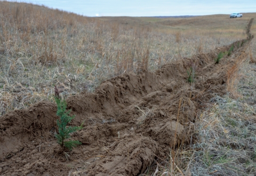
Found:
<svg viewBox="0 0 256 176"><path fill-rule="evenodd" d="M198 143L193 147L200 150L190 155L191 175L256 174L256 75L249 52L230 70L233 91L218 97L195 123Z"/></svg>

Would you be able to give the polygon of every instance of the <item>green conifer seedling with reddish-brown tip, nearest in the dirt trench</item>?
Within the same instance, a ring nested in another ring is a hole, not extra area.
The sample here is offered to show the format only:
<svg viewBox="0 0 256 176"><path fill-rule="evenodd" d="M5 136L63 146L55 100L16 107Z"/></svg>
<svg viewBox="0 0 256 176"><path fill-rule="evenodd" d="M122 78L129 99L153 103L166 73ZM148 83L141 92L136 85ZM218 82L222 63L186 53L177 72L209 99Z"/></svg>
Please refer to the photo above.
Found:
<svg viewBox="0 0 256 176"><path fill-rule="evenodd" d="M75 116L69 116L71 110L66 109L67 103L65 100L61 100L57 86L55 86L55 102L57 103L57 116L60 117L57 119L59 134L55 134L55 137L61 147L72 150L73 147L81 145L81 142L67 139L71 138L71 133L81 130L82 126L67 126Z"/></svg>

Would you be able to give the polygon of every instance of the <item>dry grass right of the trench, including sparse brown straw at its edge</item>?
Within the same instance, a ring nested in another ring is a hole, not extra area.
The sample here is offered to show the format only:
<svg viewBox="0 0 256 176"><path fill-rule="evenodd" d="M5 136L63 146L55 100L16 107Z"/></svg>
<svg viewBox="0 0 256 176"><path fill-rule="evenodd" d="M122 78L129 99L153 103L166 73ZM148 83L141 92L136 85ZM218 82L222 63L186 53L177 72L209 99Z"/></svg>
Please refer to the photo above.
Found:
<svg viewBox="0 0 256 176"><path fill-rule="evenodd" d="M228 71L227 94L212 98L191 123L195 142L170 150L166 161L157 158L143 175L256 174L256 66L250 59L255 46L254 38Z"/></svg>

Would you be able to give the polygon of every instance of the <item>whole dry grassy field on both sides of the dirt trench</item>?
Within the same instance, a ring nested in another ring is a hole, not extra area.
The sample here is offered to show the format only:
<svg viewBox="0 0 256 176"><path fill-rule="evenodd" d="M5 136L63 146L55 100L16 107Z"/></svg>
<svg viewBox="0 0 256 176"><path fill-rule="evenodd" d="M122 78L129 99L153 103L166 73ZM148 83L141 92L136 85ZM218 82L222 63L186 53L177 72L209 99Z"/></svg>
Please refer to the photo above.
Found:
<svg viewBox="0 0 256 176"><path fill-rule="evenodd" d="M0 2L0 116L38 101L54 101L54 85L64 98L93 92L119 74L154 71L167 62L231 44L246 38L246 24L255 14L243 13L238 19L222 14L89 18ZM256 34L255 21L251 33ZM177 166L186 175L256 173L255 38L243 59L228 94L195 123L197 143L193 150L184 150L183 163ZM170 165L161 168L159 175L179 175Z"/></svg>

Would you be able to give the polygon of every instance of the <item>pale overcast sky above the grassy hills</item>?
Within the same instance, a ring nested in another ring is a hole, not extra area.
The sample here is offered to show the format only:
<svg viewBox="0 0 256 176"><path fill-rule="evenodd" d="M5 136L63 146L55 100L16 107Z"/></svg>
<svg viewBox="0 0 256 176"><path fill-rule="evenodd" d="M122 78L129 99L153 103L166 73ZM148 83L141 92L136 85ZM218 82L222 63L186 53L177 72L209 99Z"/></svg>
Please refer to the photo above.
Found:
<svg viewBox="0 0 256 176"><path fill-rule="evenodd" d="M20 1L18 1L20 2ZM256 12L256 0L23 0L54 9L95 16L176 16Z"/></svg>

